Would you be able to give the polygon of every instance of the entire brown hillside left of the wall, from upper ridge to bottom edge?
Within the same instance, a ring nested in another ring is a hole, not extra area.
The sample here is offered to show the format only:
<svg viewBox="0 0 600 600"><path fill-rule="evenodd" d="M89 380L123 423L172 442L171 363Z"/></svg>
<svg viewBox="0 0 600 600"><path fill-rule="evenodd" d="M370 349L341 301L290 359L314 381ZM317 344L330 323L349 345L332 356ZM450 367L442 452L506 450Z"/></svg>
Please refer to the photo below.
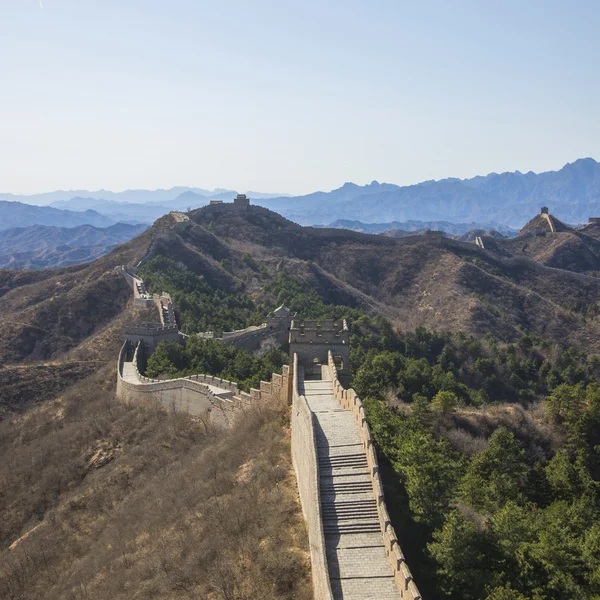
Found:
<svg viewBox="0 0 600 600"><path fill-rule="evenodd" d="M115 400L123 327L157 319L115 267L184 226L164 217L88 265L0 271L2 598L311 597L287 405L221 431Z"/></svg>

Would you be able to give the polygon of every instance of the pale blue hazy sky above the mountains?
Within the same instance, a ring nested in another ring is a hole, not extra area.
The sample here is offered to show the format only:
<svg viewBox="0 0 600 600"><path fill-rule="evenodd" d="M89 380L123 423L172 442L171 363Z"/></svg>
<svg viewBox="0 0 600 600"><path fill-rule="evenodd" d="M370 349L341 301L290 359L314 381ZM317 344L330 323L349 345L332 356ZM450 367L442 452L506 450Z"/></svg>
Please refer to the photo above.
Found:
<svg viewBox="0 0 600 600"><path fill-rule="evenodd" d="M0 0L0 192L600 159L597 0Z"/></svg>

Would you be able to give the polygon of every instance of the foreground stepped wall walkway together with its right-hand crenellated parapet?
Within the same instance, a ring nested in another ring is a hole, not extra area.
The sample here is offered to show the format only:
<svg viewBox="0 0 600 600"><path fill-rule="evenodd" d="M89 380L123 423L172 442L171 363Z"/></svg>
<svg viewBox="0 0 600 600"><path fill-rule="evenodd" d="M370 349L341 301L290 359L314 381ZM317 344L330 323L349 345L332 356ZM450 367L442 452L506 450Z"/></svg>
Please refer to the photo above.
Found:
<svg viewBox="0 0 600 600"><path fill-rule="evenodd" d="M337 378L300 379L313 415L328 577L336 600L421 598L385 507L362 403Z"/></svg>

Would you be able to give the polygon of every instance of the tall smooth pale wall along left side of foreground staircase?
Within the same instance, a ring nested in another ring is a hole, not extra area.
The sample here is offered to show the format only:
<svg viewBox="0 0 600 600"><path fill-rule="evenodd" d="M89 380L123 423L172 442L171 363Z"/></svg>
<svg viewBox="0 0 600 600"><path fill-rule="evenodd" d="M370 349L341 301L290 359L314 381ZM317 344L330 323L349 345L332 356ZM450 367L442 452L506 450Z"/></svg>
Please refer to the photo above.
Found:
<svg viewBox="0 0 600 600"><path fill-rule="evenodd" d="M292 463L296 472L302 513L308 525L310 562L315 600L333 600L319 497L319 460L314 416L298 392L298 355L294 354L292 380Z"/></svg>

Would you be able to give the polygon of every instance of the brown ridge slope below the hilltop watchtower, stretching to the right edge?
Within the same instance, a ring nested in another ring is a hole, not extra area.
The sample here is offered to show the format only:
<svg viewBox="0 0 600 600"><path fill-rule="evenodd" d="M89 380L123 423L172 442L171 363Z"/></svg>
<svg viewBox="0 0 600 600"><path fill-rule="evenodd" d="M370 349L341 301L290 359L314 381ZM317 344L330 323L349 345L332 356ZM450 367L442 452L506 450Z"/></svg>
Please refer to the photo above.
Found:
<svg viewBox="0 0 600 600"><path fill-rule="evenodd" d="M163 238L157 251L231 285L251 281L247 253L258 263L295 271L310 285L319 280L326 293L343 294L403 330L424 325L478 335L491 331L506 340L529 330L600 348L600 323L582 318L598 298L599 279L439 235L393 239L303 228L259 207L236 211L223 205L193 212L191 222Z"/></svg>

